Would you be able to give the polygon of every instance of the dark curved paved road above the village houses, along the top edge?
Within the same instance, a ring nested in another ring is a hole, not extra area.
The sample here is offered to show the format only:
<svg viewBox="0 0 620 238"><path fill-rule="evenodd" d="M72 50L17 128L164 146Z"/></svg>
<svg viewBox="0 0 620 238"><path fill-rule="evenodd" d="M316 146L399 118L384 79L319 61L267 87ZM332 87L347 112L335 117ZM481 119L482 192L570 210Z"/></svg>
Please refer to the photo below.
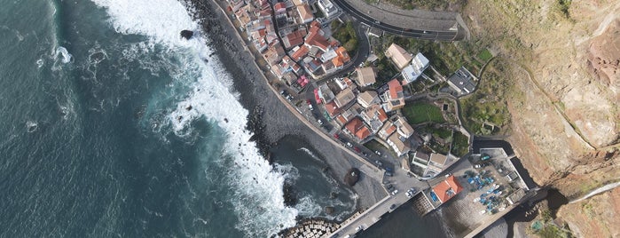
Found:
<svg viewBox="0 0 620 238"><path fill-rule="evenodd" d="M454 41L459 40L457 36L459 35L459 31L440 31L440 30L423 30L423 29L412 29L412 28L399 28L393 25L389 25L385 22L381 22L379 20L373 19L373 17L368 16L367 14L358 11L356 8L351 6L346 1L336 0L334 1L344 12L349 13L356 20L360 20L367 26L373 28L380 28L392 35L405 36L405 37L413 37L425 40L440 40L440 41Z"/></svg>

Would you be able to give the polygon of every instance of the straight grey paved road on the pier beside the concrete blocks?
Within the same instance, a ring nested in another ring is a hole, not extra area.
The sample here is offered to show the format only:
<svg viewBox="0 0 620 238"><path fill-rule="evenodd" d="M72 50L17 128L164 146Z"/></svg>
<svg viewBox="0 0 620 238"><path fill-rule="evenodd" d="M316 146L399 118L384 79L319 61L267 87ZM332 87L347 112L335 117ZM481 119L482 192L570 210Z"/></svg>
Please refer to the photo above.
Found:
<svg viewBox="0 0 620 238"><path fill-rule="evenodd" d="M392 210L396 210L397 207L408 202L411 198L407 197L405 193L410 188L414 187L419 192L428 188L427 182L409 177L404 170L397 170L394 177L388 177L386 180L398 191L396 194L388 195L356 218L349 219L346 224L341 224L341 228L336 230L334 234L330 234L327 237L334 237L336 234L338 237L344 237L347 234L357 234L373 226L386 213L392 212Z"/></svg>

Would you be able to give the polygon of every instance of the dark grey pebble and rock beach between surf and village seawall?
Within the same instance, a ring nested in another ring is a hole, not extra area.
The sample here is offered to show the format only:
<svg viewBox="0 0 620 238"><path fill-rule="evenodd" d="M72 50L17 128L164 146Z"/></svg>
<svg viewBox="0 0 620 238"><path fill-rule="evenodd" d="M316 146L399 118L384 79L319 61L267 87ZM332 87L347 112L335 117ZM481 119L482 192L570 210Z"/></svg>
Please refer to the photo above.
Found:
<svg viewBox="0 0 620 238"><path fill-rule="evenodd" d="M210 39L209 46L216 50L222 65L232 75L235 91L239 92L241 104L249 110L247 129L253 131L252 139L269 159L269 149L286 135L301 137L320 154L329 167L330 175L341 181L350 168L361 166L355 158L321 138L293 115L271 91L263 77L263 71L256 67L255 58L247 51L245 43L230 25L227 16L214 1L191 0L194 18L202 23L204 34ZM358 195L357 209L365 209L385 196L381 184L362 174L352 187ZM290 189L290 187L287 188ZM298 223L302 225L302 222Z"/></svg>

